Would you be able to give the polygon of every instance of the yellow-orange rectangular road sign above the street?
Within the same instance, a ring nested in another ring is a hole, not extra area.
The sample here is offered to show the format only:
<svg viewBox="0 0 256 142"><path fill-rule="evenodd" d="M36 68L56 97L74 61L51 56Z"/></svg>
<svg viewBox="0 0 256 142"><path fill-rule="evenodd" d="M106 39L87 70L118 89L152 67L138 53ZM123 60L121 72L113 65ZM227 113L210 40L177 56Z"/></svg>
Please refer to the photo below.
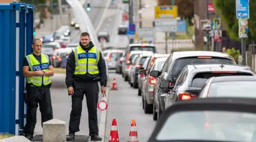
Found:
<svg viewBox="0 0 256 142"><path fill-rule="evenodd" d="M177 6L156 6L155 19L158 18L176 18Z"/></svg>

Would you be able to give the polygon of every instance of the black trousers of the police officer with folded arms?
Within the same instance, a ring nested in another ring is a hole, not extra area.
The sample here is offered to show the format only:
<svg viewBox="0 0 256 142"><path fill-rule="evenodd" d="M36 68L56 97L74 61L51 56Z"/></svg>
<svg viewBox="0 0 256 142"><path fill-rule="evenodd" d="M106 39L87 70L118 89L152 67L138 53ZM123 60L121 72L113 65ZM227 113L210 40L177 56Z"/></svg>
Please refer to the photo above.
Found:
<svg viewBox="0 0 256 142"><path fill-rule="evenodd" d="M42 127L43 122L53 119L51 93L49 87L36 87L31 85L28 87L28 102L27 102L27 123L24 127L25 135L34 135L36 125L36 111L41 112Z"/></svg>

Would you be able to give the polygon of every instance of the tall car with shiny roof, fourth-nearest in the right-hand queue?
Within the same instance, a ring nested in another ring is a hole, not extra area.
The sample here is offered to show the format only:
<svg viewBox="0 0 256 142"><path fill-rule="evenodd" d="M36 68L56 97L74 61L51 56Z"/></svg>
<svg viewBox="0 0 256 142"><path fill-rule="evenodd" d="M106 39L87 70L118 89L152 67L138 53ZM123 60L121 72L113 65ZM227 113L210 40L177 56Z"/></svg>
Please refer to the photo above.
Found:
<svg viewBox="0 0 256 142"><path fill-rule="evenodd" d="M163 65L161 72L158 70L152 70L150 75L156 77L156 83L154 86L154 103L153 103L153 119L157 120L159 94L168 93L170 90L160 88L162 81L170 81L170 87L174 86L177 76L181 70L190 64L236 64L234 59L222 52L212 51L183 51L173 52ZM162 112L160 112L162 113Z"/></svg>

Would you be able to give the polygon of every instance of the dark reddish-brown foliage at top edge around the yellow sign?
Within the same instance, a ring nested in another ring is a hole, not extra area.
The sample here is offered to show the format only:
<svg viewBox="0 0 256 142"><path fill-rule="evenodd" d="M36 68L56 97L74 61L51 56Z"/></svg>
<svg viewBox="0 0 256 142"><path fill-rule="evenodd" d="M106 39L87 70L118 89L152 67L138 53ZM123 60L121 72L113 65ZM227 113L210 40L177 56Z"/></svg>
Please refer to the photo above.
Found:
<svg viewBox="0 0 256 142"><path fill-rule="evenodd" d="M158 5L172 5L172 0L158 0ZM175 0L181 18L191 18L194 14L194 0Z"/></svg>

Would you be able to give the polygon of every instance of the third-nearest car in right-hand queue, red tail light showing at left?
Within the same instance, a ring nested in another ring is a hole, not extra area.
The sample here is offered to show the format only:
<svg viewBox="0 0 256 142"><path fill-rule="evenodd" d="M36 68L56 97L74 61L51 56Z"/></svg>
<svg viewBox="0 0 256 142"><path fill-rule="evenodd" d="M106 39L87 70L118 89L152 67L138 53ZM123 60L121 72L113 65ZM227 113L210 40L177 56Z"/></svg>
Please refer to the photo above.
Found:
<svg viewBox="0 0 256 142"><path fill-rule="evenodd" d="M163 81L160 83L160 88L171 89L171 91L169 93L158 94L160 97L158 99L158 104L160 106L158 107L160 108L160 113L158 113L158 115L177 101L197 98L201 88L210 77L222 76L255 76L255 74L251 72L250 68L241 65L187 65L181 70L173 88L169 87L170 81ZM232 88L234 87L232 85L229 86Z"/></svg>

